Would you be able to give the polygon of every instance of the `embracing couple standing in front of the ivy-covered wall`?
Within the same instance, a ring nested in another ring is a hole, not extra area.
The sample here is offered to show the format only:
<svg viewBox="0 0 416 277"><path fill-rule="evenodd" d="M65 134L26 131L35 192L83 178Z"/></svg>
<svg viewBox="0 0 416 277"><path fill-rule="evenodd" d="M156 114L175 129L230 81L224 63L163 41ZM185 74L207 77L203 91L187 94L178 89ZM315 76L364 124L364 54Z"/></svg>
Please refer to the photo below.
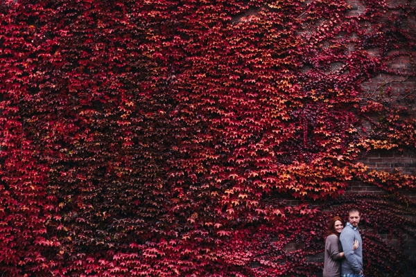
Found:
<svg viewBox="0 0 416 277"><path fill-rule="evenodd" d="M325 242L324 277L363 277L363 242L358 232L360 212L348 211L344 228L341 217L333 217Z"/></svg>

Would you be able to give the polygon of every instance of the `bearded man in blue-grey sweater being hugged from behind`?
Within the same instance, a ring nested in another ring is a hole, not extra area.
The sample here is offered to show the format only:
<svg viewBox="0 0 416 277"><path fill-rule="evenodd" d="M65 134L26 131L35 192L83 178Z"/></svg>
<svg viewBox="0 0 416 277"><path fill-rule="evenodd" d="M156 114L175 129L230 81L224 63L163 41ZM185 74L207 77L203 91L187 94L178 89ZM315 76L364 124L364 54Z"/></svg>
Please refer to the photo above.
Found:
<svg viewBox="0 0 416 277"><path fill-rule="evenodd" d="M348 221L340 235L340 242L345 254L345 259L341 264L341 277L361 277L363 276L363 241L358 231L360 211L350 208ZM356 251L353 248L355 240L358 240Z"/></svg>

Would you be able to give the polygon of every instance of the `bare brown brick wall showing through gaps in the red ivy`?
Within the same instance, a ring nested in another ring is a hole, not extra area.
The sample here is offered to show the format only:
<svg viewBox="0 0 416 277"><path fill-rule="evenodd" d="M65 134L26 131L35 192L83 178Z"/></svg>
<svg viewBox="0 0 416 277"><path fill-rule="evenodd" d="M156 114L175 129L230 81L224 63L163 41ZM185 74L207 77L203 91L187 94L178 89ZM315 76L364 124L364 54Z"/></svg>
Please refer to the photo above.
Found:
<svg viewBox="0 0 416 277"><path fill-rule="evenodd" d="M305 3L310 3L311 0L306 0ZM352 6L351 10L347 13L348 16L354 17L361 15L365 11L365 1L360 0L349 0L347 1L349 5ZM399 6L401 3L407 3L406 1L402 0L385 0L384 1L386 5L390 7ZM412 1L412 5L416 8L416 1ZM320 22L318 21L319 25ZM314 26L311 26L311 30L314 28ZM413 28L412 26L409 26L409 28ZM371 30L369 30L371 32ZM343 36L341 35L338 37L339 39L342 39ZM348 46L349 51L354 50L354 44ZM378 57L379 56L379 48L371 48L367 49L368 54L371 57ZM387 55L396 55L397 52L390 51L390 53L387 53ZM412 56L416 56L415 53L412 53ZM390 69L394 69L396 71L400 71L401 73L410 73L414 72L415 69L415 61L410 60L408 56L404 55L398 55L393 62L389 65ZM307 71L308 68L305 68L304 71ZM392 88L393 93L393 100L397 100L403 96L406 96L409 91L415 91L416 89L416 78L406 78L403 77L403 75L387 75L387 74L380 74L377 76L374 76L372 80L369 80L368 82L364 82L362 84L363 87L363 93L367 97L372 96L380 96L382 94L381 91L384 91L385 89L388 89L388 87ZM406 105L406 104L403 104ZM413 114L416 114L416 105L408 105L408 109L410 111L413 111ZM376 118L373 118L376 119ZM367 132L371 131L371 124L370 122L363 122L363 125ZM368 153L363 159L360 161L361 163L364 163L365 166L368 167L368 170L378 170L378 171L385 171L390 173L395 172L402 172L407 175L416 175L416 152L413 150L402 150L401 152L397 150L376 150L373 152ZM410 199L413 199L416 201L416 193L410 192L408 190L401 190L400 193L403 195L406 195L406 197L409 197ZM352 180L349 183L349 187L345 191L345 195L352 195L352 194L358 194L358 195L387 195L388 193L383 190L382 188L379 188L377 186L371 185L371 184L364 184L363 182L359 180ZM285 196L284 196L285 197ZM288 205L298 205L300 204L300 201L298 199L294 199L293 197L285 197L286 204ZM322 204L322 202L311 202L312 206L318 206ZM404 215L409 220L413 220L413 222L416 222L416 217ZM363 229L363 231L368 231L375 233L372 229ZM413 230L416 233L416 229ZM415 265L409 265L406 269L404 269L404 272L407 273L406 276L416 276L416 236L407 235L404 234L402 236L402 240L404 240L404 244L402 246L399 245L399 238L395 235L390 235L388 233L377 233L379 237L386 242L388 245L394 248L401 248L401 251L404 252L404 254L408 257L410 257L413 262L415 262ZM291 252L295 251L300 248L300 245L296 243L289 243L286 245L285 251ZM323 249L322 249L323 250ZM365 251L365 249L364 249ZM307 257L307 260L313 261L313 262L323 262L324 256L323 253L320 253L316 256L309 256ZM260 267L261 265L259 263L253 263L252 267ZM315 272L316 276L320 277L322 276L321 272ZM385 275L388 276L388 275ZM404 277L406 277L404 276ZM370 277L370 276L368 276Z"/></svg>

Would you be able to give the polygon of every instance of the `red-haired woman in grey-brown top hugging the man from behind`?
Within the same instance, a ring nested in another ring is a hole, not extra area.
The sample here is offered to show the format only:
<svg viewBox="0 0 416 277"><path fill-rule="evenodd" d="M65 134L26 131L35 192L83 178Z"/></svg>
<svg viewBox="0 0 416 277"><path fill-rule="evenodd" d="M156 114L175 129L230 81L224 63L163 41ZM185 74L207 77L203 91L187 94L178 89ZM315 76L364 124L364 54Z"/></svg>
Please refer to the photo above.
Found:
<svg viewBox="0 0 416 277"><path fill-rule="evenodd" d="M344 229L344 220L339 216L332 217L328 226L325 241L324 277L341 276L341 259L344 258L340 233ZM358 248L358 241L354 242L354 251Z"/></svg>

